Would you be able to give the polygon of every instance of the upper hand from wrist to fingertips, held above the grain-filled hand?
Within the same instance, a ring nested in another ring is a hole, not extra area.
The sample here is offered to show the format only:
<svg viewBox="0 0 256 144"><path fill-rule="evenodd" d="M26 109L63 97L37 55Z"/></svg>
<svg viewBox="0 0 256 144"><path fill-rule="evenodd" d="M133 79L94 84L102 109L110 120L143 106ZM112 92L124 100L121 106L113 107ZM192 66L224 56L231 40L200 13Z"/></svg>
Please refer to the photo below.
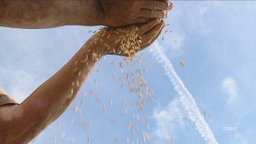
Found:
<svg viewBox="0 0 256 144"><path fill-rule="evenodd" d="M164 19L172 3L166 0L97 0L102 13L102 25L110 27L146 23ZM100 13L100 14L101 14Z"/></svg>

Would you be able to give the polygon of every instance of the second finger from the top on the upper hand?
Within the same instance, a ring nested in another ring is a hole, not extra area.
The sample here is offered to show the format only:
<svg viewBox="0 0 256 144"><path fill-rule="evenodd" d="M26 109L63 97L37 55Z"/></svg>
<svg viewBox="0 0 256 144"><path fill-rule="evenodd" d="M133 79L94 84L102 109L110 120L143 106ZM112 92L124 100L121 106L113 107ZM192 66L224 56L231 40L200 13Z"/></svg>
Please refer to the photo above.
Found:
<svg viewBox="0 0 256 144"><path fill-rule="evenodd" d="M140 13L137 14L140 18L155 18L155 19L165 19L167 17L167 11L158 11L150 9L141 9Z"/></svg>

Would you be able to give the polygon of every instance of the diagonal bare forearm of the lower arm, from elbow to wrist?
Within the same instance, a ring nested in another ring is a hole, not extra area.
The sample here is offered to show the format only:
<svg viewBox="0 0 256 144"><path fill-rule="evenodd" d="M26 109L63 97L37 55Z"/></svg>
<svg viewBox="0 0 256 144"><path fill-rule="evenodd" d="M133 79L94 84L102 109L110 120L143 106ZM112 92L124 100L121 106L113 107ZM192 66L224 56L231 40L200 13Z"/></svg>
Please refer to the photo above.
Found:
<svg viewBox="0 0 256 144"><path fill-rule="evenodd" d="M97 61L95 54L100 59L102 52L95 50L94 44L85 43L83 48L59 72L20 104L24 114L21 121L17 120L15 131L19 136L15 141L31 141L65 112L95 66ZM19 133L19 130L22 133ZM9 142L15 143L15 141Z"/></svg>

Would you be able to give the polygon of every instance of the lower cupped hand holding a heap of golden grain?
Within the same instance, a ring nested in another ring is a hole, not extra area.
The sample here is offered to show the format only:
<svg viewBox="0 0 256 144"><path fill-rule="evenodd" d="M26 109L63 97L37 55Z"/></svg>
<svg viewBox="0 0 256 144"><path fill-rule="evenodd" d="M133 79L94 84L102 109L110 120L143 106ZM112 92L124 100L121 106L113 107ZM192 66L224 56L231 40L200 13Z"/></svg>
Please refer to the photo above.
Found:
<svg viewBox="0 0 256 144"><path fill-rule="evenodd" d="M134 30L130 33L122 32L124 29L102 30L96 33L93 40L97 43L96 49L103 51L104 55L132 56L154 43L164 27L164 20L151 20L139 26L137 31L135 27L130 26ZM127 37L129 35L131 37Z"/></svg>

